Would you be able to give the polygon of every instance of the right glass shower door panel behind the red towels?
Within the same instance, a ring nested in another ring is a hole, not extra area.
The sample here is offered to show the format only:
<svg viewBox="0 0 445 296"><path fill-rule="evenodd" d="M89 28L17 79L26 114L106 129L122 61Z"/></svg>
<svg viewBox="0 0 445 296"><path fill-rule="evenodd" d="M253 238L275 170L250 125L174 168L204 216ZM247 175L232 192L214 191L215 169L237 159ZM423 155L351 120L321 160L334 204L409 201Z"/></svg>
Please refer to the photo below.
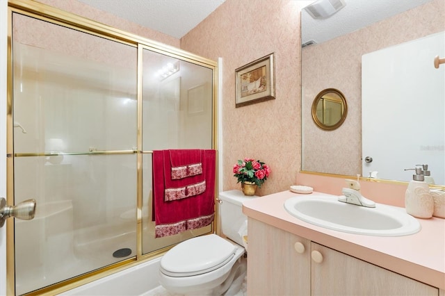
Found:
<svg viewBox="0 0 445 296"><path fill-rule="evenodd" d="M212 231L155 238L153 150L213 148L213 70L143 49L143 254Z"/></svg>

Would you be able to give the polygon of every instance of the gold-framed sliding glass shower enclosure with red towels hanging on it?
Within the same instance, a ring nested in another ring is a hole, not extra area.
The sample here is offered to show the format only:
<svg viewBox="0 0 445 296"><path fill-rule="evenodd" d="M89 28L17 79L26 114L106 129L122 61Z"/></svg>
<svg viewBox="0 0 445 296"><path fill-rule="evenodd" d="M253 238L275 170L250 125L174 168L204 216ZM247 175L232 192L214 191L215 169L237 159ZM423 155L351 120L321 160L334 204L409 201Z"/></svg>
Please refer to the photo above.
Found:
<svg viewBox="0 0 445 296"><path fill-rule="evenodd" d="M8 204L37 210L8 221L8 291L63 290L213 231L154 238L152 151L216 149L216 63L21 3L10 3Z"/></svg>

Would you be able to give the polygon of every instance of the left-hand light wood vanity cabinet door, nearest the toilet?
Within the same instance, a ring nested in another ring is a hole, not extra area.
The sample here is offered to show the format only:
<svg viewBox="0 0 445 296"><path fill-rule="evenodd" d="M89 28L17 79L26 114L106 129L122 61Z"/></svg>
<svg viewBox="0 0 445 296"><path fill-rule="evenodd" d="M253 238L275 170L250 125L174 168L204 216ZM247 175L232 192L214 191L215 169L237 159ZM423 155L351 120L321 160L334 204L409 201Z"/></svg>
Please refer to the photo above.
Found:
<svg viewBox="0 0 445 296"><path fill-rule="evenodd" d="M310 295L310 283L310 241L249 218L248 295Z"/></svg>

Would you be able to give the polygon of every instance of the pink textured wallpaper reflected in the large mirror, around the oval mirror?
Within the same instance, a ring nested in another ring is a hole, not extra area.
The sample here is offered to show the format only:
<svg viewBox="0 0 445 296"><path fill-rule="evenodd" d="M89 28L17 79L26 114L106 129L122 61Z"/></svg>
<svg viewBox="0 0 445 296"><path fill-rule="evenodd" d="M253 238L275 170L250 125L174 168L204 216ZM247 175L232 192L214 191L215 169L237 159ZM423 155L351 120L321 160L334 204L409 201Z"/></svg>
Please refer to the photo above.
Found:
<svg viewBox="0 0 445 296"><path fill-rule="evenodd" d="M444 31L444 15L445 1L434 0L359 31L302 49L303 170L352 176L362 172L362 55ZM348 116L335 131L318 129L312 120L312 101L325 88L337 88L348 103Z"/></svg>

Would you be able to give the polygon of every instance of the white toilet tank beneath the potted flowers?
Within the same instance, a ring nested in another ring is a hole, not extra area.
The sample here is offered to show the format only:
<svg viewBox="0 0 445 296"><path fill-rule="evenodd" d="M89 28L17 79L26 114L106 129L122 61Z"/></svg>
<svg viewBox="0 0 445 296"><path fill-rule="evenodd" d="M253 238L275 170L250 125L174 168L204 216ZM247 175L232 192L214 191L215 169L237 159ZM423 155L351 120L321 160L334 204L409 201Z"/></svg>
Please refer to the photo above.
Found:
<svg viewBox="0 0 445 296"><path fill-rule="evenodd" d="M238 245L243 245L243 238L241 238L238 231L243 227L243 224L248 220L248 217L243 214L243 202L252 200L253 197L246 197L240 190L229 190L220 192L220 220L221 231L227 238L230 238Z"/></svg>

